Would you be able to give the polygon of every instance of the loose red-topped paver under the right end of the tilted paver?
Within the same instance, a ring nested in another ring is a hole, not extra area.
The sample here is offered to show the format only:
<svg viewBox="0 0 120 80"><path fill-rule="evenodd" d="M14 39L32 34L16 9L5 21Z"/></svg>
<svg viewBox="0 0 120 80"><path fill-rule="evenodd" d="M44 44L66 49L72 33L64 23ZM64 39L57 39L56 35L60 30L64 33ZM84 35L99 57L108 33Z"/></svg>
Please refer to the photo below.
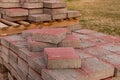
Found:
<svg viewBox="0 0 120 80"><path fill-rule="evenodd" d="M79 37L75 35L67 35L62 42L58 44L60 47L73 47L73 48L81 48L81 41Z"/></svg>

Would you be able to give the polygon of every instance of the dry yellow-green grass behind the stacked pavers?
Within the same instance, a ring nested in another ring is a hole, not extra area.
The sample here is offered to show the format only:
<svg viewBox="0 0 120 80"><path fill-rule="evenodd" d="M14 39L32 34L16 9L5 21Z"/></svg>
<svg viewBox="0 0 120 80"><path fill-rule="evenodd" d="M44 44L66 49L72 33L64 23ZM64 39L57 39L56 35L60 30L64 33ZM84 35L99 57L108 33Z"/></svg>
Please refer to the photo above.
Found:
<svg viewBox="0 0 120 80"><path fill-rule="evenodd" d="M68 9L79 10L83 28L120 36L120 0L66 0Z"/></svg>

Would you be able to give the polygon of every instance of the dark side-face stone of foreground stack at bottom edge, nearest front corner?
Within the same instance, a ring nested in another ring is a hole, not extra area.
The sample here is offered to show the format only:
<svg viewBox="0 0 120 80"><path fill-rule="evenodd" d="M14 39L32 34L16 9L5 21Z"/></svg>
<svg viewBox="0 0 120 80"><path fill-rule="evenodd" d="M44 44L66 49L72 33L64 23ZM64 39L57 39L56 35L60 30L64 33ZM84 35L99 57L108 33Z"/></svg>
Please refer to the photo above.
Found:
<svg viewBox="0 0 120 80"><path fill-rule="evenodd" d="M43 80L41 78L41 75L39 73L37 73L36 71L34 71L33 69L29 68L29 75L30 75L30 79L31 80Z"/></svg>

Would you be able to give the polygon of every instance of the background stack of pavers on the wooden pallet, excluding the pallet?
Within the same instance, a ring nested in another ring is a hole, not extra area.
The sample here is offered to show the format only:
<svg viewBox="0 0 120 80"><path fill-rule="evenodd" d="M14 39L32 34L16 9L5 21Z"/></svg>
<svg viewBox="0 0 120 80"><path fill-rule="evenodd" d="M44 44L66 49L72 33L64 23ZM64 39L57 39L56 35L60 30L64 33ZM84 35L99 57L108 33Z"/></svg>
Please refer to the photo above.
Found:
<svg viewBox="0 0 120 80"><path fill-rule="evenodd" d="M9 21L52 21L80 16L78 11L68 11L60 0L1 0L2 18Z"/></svg>

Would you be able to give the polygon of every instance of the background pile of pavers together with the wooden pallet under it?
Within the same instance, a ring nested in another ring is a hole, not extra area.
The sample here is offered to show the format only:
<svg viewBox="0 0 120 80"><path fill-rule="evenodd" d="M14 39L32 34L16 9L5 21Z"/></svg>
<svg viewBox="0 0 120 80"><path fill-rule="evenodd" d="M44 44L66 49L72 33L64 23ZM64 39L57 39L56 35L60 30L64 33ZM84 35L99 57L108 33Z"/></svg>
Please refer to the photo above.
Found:
<svg viewBox="0 0 120 80"><path fill-rule="evenodd" d="M1 36L25 29L79 24L79 11L67 10L66 3L61 0L1 0L0 4Z"/></svg>

